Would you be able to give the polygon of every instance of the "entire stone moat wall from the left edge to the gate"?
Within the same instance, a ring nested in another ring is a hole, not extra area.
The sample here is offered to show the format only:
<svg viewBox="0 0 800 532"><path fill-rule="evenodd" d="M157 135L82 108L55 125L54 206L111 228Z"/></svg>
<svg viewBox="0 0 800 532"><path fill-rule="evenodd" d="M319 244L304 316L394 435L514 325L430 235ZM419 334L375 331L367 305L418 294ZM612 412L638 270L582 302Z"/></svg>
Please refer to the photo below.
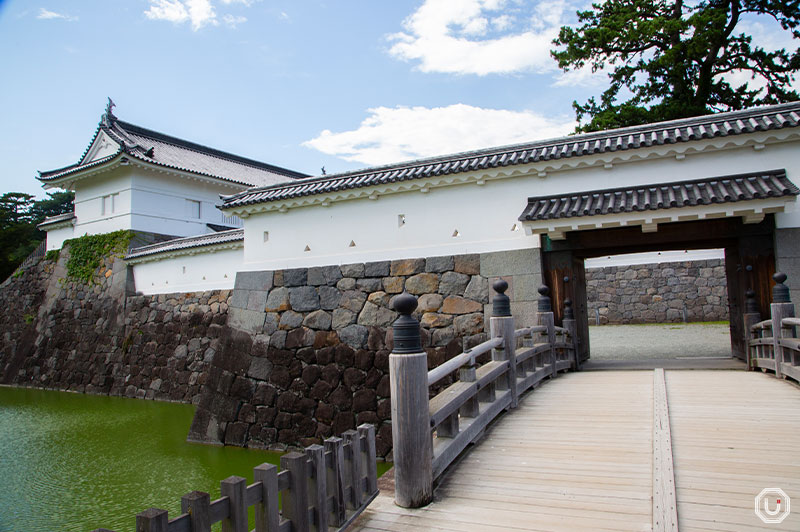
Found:
<svg viewBox="0 0 800 532"><path fill-rule="evenodd" d="M232 291L136 295L106 258L69 281L68 248L0 286L0 382L198 405L189 438L271 449L373 423L391 457L391 299L419 298L429 366L486 339L490 283L533 323L538 249L240 272Z"/></svg>

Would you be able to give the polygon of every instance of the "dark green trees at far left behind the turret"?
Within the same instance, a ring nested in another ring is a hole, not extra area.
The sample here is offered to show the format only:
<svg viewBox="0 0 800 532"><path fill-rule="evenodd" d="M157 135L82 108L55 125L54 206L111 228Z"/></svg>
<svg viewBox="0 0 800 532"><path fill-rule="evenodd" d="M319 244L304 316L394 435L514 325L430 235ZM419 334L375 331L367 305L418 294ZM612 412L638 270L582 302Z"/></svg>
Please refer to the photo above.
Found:
<svg viewBox="0 0 800 532"><path fill-rule="evenodd" d="M73 209L72 192L53 192L34 200L30 194L7 192L0 196L0 280L11 275L31 254L45 234L36 228L48 216Z"/></svg>

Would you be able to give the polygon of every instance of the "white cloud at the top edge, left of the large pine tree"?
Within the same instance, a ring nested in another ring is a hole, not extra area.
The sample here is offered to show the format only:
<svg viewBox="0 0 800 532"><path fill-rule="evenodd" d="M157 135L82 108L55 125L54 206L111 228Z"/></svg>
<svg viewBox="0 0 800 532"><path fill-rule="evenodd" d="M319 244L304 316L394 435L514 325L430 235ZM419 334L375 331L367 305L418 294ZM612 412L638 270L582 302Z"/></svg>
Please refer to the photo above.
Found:
<svg viewBox="0 0 800 532"><path fill-rule="evenodd" d="M532 10L507 0L426 0L403 22L405 31L388 37L389 53L418 61L423 72L551 72L552 40L567 8L554 0Z"/></svg>

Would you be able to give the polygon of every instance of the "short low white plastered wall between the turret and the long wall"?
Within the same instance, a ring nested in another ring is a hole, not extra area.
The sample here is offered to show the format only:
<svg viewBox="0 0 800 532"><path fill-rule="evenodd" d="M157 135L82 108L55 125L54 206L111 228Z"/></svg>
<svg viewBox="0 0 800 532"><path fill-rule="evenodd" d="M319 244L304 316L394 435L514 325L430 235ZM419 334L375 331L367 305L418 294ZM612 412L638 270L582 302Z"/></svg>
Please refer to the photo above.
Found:
<svg viewBox="0 0 800 532"><path fill-rule="evenodd" d="M196 255L168 256L133 264L136 291L145 295L233 288L242 269L242 248L198 250Z"/></svg>

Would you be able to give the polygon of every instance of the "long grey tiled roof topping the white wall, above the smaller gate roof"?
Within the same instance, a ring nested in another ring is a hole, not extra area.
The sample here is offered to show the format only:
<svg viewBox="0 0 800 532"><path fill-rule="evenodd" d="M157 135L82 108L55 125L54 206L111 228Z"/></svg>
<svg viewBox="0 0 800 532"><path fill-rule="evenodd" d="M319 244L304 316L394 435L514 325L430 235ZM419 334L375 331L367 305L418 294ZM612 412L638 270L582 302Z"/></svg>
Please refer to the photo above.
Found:
<svg viewBox="0 0 800 532"><path fill-rule="evenodd" d="M800 102L612 129L367 168L250 189L225 197L223 208L539 161L677 144L800 126Z"/></svg>

